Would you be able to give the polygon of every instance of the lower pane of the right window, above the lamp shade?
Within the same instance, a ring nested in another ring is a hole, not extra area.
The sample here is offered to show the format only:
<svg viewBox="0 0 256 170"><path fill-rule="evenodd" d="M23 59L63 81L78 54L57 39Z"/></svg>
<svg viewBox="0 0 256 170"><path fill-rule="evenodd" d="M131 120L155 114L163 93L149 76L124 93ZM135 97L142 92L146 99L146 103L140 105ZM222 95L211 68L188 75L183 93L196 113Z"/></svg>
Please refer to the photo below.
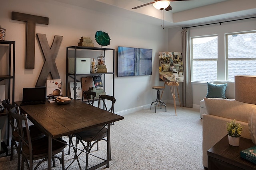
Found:
<svg viewBox="0 0 256 170"><path fill-rule="evenodd" d="M255 60L228 61L228 80L234 81L235 75L256 75Z"/></svg>

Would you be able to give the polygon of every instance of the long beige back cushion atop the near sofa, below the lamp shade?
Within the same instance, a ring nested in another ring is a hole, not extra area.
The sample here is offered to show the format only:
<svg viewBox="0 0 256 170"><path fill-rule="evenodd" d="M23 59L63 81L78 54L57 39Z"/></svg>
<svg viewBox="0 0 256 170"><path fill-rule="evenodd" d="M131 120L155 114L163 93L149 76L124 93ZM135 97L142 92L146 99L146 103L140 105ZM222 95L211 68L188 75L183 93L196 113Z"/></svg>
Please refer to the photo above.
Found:
<svg viewBox="0 0 256 170"><path fill-rule="evenodd" d="M204 98L207 114L237 121L248 122L256 105L238 102L234 99Z"/></svg>

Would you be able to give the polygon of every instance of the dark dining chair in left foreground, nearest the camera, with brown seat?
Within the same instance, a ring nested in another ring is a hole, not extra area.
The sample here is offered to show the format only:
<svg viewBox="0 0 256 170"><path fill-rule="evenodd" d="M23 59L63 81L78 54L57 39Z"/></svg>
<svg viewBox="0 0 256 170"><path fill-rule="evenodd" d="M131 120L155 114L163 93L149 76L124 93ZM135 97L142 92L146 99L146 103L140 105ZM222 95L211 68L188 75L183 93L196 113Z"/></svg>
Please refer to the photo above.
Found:
<svg viewBox="0 0 256 170"><path fill-rule="evenodd" d="M38 168L42 162L48 160L48 137L43 137L40 139L32 140L30 134L30 127L28 126L28 117L26 114L20 115L17 114L18 107L13 107L10 109L10 116L14 121L16 121L15 130L18 132L18 137L20 139L20 145L22 145L21 150L21 168L24 169L24 162L29 170L33 168L33 160L40 160L34 169ZM25 124L25 128L22 126ZM26 134L26 136L25 136ZM64 165L64 148L66 147L66 141L61 138L52 140L52 159L54 162L54 158L58 158L60 160L60 164L62 164L62 170L65 170ZM62 152L61 158L59 156L55 156ZM29 162L28 162L29 160ZM55 162L54 162L55 166Z"/></svg>

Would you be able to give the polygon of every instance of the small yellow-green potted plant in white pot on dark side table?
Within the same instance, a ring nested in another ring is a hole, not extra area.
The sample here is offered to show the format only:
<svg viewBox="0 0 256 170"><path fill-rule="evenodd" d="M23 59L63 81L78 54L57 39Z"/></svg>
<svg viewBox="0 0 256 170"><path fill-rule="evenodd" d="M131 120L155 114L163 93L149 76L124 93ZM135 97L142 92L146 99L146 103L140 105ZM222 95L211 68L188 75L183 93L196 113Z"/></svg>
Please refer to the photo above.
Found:
<svg viewBox="0 0 256 170"><path fill-rule="evenodd" d="M240 123L236 123L236 119L232 120L230 123L227 123L228 143L230 145L235 147L239 146L242 129L242 125Z"/></svg>

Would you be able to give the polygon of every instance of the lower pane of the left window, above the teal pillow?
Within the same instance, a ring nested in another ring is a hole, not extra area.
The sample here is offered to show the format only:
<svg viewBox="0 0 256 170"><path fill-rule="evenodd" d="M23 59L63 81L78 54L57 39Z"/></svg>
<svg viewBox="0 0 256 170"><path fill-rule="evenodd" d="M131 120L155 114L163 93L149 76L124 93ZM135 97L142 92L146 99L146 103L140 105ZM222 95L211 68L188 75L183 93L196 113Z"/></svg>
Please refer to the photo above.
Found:
<svg viewBox="0 0 256 170"><path fill-rule="evenodd" d="M192 61L192 81L217 80L217 61Z"/></svg>

